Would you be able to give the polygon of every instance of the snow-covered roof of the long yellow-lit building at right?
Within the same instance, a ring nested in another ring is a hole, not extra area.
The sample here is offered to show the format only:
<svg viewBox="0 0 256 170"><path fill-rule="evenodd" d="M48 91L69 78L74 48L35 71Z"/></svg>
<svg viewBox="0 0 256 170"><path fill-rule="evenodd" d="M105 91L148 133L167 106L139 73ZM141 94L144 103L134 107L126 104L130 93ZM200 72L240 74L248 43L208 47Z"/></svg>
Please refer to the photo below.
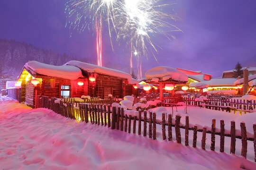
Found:
<svg viewBox="0 0 256 170"><path fill-rule="evenodd" d="M196 82L189 84L190 87L195 87L199 83L204 83L206 85L210 86L234 86L234 82L236 81L236 78L212 78L210 80Z"/></svg>

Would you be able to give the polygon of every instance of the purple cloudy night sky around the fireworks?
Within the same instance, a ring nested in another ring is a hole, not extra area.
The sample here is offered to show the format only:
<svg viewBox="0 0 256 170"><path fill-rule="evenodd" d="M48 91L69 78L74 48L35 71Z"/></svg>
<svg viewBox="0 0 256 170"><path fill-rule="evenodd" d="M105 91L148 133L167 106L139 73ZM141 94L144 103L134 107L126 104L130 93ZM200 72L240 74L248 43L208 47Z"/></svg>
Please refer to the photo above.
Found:
<svg viewBox="0 0 256 170"><path fill-rule="evenodd" d="M31 43L58 53L71 53L96 61L96 38L87 29L70 37L64 4L66 0L0 0L0 38ZM256 67L256 0L176 0L172 6L181 19L174 25L183 33L176 40L158 39L157 54L143 58L143 74L155 66L201 70L219 77L233 69ZM170 8L172 10L172 8ZM104 29L104 27L103 27ZM129 51L114 43L111 50L107 32L103 35L103 66L129 72ZM134 59L134 65L135 65ZM136 72L136 70L134 70Z"/></svg>

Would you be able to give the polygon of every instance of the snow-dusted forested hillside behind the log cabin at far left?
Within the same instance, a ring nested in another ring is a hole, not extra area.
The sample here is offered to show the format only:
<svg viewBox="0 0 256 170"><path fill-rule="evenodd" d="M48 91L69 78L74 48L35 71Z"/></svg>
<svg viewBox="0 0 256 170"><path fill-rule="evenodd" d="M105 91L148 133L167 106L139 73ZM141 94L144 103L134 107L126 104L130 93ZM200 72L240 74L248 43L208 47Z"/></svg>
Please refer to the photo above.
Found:
<svg viewBox="0 0 256 170"><path fill-rule="evenodd" d="M29 60L60 66L67 61L77 60L77 58L66 53L58 54L52 50L40 49L26 42L18 42L15 39L0 39L1 74L7 74L1 75L1 77L17 78L22 67ZM83 61L86 61L86 59L83 59Z"/></svg>

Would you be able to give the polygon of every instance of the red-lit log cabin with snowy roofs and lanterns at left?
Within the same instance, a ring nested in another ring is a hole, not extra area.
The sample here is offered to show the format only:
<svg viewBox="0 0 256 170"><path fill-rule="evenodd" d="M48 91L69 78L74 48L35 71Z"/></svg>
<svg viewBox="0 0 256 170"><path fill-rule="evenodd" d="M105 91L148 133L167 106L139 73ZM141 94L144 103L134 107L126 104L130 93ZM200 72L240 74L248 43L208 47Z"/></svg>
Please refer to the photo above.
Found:
<svg viewBox="0 0 256 170"><path fill-rule="evenodd" d="M20 102L34 107L36 95L49 98L82 95L104 98L112 94L114 97L123 97L130 79L128 73L80 61L69 61L63 66L28 61L18 76ZM35 80L37 85L32 84Z"/></svg>

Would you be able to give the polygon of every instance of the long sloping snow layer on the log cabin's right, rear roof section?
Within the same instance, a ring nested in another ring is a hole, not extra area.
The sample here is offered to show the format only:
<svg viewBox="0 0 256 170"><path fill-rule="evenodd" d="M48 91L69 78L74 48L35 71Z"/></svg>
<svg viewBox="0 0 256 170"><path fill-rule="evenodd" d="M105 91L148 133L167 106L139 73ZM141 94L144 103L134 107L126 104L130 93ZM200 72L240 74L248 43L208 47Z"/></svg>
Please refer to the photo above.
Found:
<svg viewBox="0 0 256 170"><path fill-rule="evenodd" d="M112 69L112 68L101 67L101 66L97 66L94 64L84 63L81 61L72 60L72 61L68 61L64 65L75 66L75 67L78 67L78 68L80 68L84 71L90 72L90 73L99 73L99 74L108 75L108 76L125 78L128 81L132 78L131 75L129 75L128 73L125 73L123 71L119 71L119 70Z"/></svg>

